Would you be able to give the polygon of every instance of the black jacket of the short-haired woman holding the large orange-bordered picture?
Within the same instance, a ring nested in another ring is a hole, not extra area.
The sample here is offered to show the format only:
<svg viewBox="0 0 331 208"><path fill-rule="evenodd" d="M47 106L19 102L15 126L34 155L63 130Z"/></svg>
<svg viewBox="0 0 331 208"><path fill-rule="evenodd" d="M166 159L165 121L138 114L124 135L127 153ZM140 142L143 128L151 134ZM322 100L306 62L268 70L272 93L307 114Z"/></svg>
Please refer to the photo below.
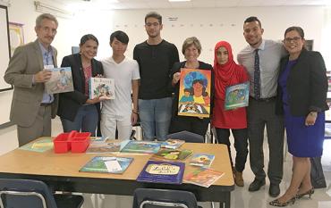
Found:
<svg viewBox="0 0 331 208"><path fill-rule="evenodd" d="M174 92L174 100L173 100L173 116L176 116L178 114L178 97L179 97L179 81L177 82L177 84L172 87L172 81L173 81L173 77L174 77L174 73L176 72L180 72L182 68L185 67L185 63L186 62L175 62L174 66L172 68L171 71L171 79L170 79L170 83L168 85L168 88L170 90L172 90ZM208 70L211 71L211 89L210 89L210 113L212 112L212 105L213 105L213 100L214 100L214 71L213 71L213 67L206 63L206 62L199 62L199 70ZM204 120L209 120L208 118L205 118Z"/></svg>

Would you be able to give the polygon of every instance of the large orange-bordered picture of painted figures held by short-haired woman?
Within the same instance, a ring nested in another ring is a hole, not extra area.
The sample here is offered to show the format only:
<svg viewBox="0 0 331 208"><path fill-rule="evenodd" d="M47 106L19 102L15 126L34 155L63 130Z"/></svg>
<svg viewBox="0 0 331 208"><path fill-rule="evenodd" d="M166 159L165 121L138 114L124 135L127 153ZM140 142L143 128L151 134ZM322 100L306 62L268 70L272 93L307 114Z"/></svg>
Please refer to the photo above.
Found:
<svg viewBox="0 0 331 208"><path fill-rule="evenodd" d="M181 69L178 115L209 118L211 71Z"/></svg>

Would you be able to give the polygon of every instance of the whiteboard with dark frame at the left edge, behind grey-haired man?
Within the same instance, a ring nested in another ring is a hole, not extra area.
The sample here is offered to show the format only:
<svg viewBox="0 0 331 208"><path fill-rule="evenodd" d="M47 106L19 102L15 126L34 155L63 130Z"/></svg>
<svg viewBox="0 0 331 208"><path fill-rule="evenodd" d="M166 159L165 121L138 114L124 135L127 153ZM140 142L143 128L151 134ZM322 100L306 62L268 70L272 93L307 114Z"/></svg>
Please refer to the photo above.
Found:
<svg viewBox="0 0 331 208"><path fill-rule="evenodd" d="M4 72L7 70L8 62L11 57L8 28L7 7L0 5L0 91L12 89L12 85L4 81Z"/></svg>

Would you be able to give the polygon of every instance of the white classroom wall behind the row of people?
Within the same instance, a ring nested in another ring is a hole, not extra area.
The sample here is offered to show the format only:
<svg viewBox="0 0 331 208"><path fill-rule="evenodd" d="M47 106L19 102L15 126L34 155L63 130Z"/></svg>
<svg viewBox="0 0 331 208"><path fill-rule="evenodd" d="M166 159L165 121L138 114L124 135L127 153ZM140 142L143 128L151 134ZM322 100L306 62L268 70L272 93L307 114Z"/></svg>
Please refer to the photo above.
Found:
<svg viewBox="0 0 331 208"><path fill-rule="evenodd" d="M9 21L24 24L25 43L36 39L34 25L40 13L35 12L33 2L33 0L12 0L8 8ZM81 36L87 33L98 37L97 58L110 56L112 52L108 45L109 36L118 29L128 33L130 43L127 55L132 57L133 47L147 39L144 29L144 16L147 12L149 10L91 11L75 12L72 19L59 17L59 28L53 42L58 50L57 61L61 63L64 55L71 54L71 46L78 46ZM259 17L265 29L263 36L265 38L281 40L284 29L298 25L305 30L306 39L314 39L314 50L322 50L322 54L330 54L330 49L322 43L322 39L327 39L322 38L327 16L326 7L323 6L164 9L157 12L160 12L164 19L161 35L178 47L181 60L182 42L186 37L191 36L196 36L201 41L202 53L199 57L201 61L213 62L214 46L221 39L230 42L233 46L233 54L237 54L246 46L242 36L242 22L250 15ZM324 37L330 36L324 34ZM1 107L8 113L0 117L0 124L8 121L11 100L12 91L4 92L0 96Z"/></svg>

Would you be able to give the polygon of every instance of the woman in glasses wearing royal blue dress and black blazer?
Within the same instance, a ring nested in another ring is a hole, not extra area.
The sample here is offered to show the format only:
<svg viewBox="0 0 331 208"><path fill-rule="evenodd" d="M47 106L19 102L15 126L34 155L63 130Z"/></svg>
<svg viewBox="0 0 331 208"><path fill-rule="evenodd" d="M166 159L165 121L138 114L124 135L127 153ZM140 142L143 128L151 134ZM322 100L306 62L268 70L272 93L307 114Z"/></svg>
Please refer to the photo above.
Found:
<svg viewBox="0 0 331 208"><path fill-rule="evenodd" d="M304 47L303 29L290 27L284 33L289 55L281 60L276 112L284 113L288 151L293 155L293 175L283 196L270 202L286 206L314 194L310 182L310 157L323 152L327 107L327 69L321 54Z"/></svg>

